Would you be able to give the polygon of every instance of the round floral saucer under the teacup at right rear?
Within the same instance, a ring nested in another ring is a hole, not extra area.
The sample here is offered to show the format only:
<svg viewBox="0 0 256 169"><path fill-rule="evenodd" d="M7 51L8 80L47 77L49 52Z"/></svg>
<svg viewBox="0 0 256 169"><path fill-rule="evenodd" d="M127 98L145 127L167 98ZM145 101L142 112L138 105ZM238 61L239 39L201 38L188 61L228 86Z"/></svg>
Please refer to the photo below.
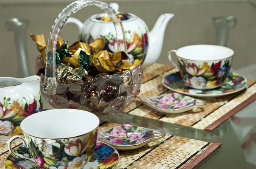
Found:
<svg viewBox="0 0 256 169"><path fill-rule="evenodd" d="M198 90L187 86L180 76L180 72L176 72L164 77L162 84L172 91L188 96L219 97L244 90L247 87L247 79L237 73L230 72L221 87L211 90Z"/></svg>

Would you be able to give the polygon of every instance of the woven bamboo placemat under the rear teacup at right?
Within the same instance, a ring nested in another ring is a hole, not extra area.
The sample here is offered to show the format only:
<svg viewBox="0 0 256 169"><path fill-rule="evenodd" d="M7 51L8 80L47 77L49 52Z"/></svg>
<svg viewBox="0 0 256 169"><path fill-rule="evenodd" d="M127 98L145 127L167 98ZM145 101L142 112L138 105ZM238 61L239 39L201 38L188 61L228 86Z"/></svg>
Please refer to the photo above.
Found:
<svg viewBox="0 0 256 169"><path fill-rule="evenodd" d="M146 67L143 70L144 79L140 87L140 95L157 96L163 93L172 93L171 90L162 85L162 79L177 71L178 69L174 66L157 63ZM207 101L207 106L190 110L186 113L164 115L137 101L134 101L123 112L167 123L212 131L256 99L256 80L247 79L247 81L247 90L217 98L200 98Z"/></svg>

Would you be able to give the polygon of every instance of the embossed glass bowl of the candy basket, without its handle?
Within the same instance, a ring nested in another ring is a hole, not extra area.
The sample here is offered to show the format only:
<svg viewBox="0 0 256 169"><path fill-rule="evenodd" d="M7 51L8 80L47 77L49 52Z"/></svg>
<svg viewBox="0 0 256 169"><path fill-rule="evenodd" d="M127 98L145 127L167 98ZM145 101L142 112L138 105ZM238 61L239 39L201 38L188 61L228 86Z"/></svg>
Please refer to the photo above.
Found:
<svg viewBox="0 0 256 169"><path fill-rule="evenodd" d="M56 94L45 96L55 108L86 110L101 119L131 104L140 93L142 79L142 67L138 65L121 75L100 76L83 84L58 84Z"/></svg>

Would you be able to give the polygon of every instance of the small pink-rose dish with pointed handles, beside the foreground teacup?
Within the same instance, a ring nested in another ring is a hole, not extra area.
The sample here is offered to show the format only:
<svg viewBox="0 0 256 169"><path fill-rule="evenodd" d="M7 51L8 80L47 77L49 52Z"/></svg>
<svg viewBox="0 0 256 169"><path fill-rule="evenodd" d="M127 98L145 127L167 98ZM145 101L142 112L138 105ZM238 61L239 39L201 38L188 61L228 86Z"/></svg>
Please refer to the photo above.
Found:
<svg viewBox="0 0 256 169"><path fill-rule="evenodd" d="M138 149L146 144L163 138L166 135L161 130L122 124L98 132L98 139L119 150Z"/></svg>

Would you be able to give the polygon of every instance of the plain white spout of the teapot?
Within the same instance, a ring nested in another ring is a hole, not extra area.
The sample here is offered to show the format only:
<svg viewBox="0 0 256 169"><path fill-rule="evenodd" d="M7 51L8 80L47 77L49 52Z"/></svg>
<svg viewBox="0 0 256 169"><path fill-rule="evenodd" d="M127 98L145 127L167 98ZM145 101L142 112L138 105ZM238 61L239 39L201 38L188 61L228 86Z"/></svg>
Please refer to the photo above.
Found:
<svg viewBox="0 0 256 169"><path fill-rule="evenodd" d="M163 47L163 37L166 25L174 14L162 14L149 32L148 52L143 62L143 66L151 65L157 61Z"/></svg>

